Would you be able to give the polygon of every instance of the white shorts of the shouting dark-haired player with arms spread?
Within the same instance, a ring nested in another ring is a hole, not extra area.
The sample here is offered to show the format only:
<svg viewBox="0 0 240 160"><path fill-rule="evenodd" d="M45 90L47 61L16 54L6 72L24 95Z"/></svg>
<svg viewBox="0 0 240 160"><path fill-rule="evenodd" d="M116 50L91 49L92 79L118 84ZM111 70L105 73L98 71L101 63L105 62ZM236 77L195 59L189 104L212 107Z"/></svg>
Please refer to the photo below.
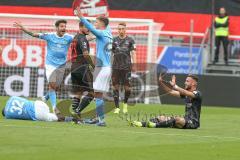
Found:
<svg viewBox="0 0 240 160"><path fill-rule="evenodd" d="M52 65L45 65L45 73L48 83L54 82L60 85L63 81L65 67L54 67Z"/></svg>

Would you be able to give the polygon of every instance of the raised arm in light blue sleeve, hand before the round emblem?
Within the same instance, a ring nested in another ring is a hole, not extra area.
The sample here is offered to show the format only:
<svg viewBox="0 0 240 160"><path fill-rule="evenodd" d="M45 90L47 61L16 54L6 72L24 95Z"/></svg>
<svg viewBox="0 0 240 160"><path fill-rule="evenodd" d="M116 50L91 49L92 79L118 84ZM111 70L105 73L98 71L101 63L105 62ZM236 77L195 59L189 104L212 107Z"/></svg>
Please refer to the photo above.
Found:
<svg viewBox="0 0 240 160"><path fill-rule="evenodd" d="M102 31L97 30L92 23L88 22L88 20L83 17L80 7L77 7L75 11L76 11L75 14L78 16L78 18L80 18L84 26L92 32L92 34L94 34L97 37L103 36Z"/></svg>

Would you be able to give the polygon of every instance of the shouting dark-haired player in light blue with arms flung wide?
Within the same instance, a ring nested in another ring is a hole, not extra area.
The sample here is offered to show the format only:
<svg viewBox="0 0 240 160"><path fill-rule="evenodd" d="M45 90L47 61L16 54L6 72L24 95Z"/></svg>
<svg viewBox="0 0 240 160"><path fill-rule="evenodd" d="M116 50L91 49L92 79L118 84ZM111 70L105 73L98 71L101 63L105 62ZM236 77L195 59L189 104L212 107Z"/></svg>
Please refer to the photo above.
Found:
<svg viewBox="0 0 240 160"><path fill-rule="evenodd" d="M58 20L55 23L56 32L33 33L23 27L20 23L15 26L32 37L43 39L47 42L47 54L45 59L46 78L49 83L49 91L43 97L44 101L50 99L53 111L57 113L56 90L58 84L62 82L64 76L64 65L67 61L68 48L73 40L73 36L66 32L66 20Z"/></svg>

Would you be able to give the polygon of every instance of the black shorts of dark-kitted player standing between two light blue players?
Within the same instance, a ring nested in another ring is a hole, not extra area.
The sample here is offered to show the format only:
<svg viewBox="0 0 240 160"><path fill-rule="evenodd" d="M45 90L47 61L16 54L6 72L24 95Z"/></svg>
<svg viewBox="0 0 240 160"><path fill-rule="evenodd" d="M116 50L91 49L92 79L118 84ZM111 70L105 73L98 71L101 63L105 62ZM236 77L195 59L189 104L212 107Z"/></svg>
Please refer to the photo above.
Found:
<svg viewBox="0 0 240 160"><path fill-rule="evenodd" d="M93 75L88 66L71 69L71 92L93 92Z"/></svg>

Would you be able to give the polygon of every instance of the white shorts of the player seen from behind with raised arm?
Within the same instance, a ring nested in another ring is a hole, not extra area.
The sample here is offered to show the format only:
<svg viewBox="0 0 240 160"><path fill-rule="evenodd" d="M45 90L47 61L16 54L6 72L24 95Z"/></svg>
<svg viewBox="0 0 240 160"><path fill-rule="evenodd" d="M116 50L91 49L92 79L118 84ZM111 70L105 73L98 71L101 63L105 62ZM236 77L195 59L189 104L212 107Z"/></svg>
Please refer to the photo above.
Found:
<svg viewBox="0 0 240 160"><path fill-rule="evenodd" d="M93 89L95 92L109 91L111 72L111 67L95 67L93 72Z"/></svg>

